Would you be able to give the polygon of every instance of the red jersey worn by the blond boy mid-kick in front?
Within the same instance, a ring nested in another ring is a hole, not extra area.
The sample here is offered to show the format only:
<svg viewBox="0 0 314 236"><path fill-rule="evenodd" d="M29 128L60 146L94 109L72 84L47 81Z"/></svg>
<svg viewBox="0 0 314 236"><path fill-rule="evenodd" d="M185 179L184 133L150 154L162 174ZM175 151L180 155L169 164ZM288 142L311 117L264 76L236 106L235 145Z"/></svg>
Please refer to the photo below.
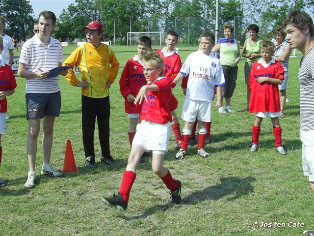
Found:
<svg viewBox="0 0 314 236"><path fill-rule="evenodd" d="M148 90L147 101L144 99L141 120L165 124L171 121L169 96L171 95L170 81L165 77L158 77L152 83L158 86L157 91Z"/></svg>

